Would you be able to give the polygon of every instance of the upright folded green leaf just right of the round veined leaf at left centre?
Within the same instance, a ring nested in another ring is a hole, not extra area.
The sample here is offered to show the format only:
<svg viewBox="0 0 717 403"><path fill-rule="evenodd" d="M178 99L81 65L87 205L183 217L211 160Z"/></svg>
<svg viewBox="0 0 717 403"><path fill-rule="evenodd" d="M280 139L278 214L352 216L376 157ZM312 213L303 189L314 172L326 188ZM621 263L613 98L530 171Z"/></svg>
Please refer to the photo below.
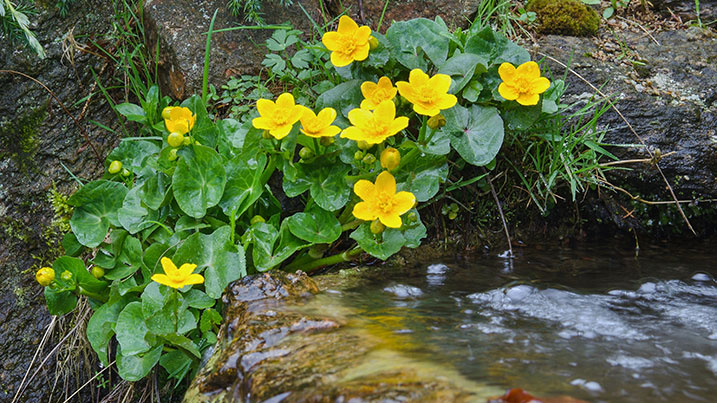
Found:
<svg viewBox="0 0 717 403"><path fill-rule="evenodd" d="M235 211L235 218L239 218L261 196L264 192L261 177L266 163L265 154L242 154L229 161L226 166L227 185L219 202L224 214L231 216Z"/></svg>

